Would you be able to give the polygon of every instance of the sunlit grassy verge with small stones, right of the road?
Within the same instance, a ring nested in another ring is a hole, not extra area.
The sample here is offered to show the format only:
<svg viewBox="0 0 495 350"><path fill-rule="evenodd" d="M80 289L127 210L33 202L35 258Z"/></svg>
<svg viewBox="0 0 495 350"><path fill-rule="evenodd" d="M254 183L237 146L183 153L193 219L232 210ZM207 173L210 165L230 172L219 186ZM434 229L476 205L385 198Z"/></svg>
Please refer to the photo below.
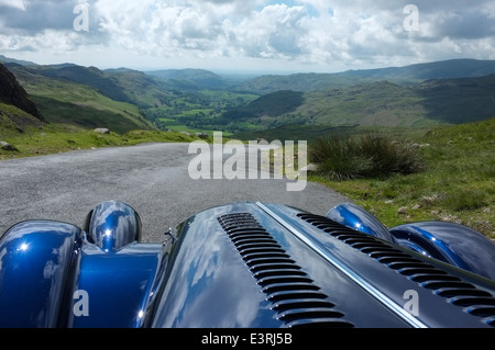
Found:
<svg viewBox="0 0 495 350"><path fill-rule="evenodd" d="M425 169L410 174L331 180L312 174L348 195L386 226L449 221L495 238L495 118L431 129L404 129L394 137L418 145Z"/></svg>

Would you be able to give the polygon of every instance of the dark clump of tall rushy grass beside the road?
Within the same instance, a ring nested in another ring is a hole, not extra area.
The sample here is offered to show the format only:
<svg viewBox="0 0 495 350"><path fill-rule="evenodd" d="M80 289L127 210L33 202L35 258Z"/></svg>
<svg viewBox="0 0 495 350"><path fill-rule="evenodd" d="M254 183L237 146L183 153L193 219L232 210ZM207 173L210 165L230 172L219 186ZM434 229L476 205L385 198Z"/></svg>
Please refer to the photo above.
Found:
<svg viewBox="0 0 495 350"><path fill-rule="evenodd" d="M320 174L337 181L386 178L424 169L417 147L382 134L317 139L309 159L318 163Z"/></svg>

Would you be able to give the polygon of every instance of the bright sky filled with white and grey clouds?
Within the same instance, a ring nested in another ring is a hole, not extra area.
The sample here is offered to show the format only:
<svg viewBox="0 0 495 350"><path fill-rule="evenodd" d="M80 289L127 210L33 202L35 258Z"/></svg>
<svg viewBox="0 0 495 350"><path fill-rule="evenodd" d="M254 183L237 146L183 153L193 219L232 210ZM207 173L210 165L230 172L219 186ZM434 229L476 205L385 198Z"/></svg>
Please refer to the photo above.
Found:
<svg viewBox="0 0 495 350"><path fill-rule="evenodd" d="M0 0L0 55L287 72L495 59L495 0Z"/></svg>

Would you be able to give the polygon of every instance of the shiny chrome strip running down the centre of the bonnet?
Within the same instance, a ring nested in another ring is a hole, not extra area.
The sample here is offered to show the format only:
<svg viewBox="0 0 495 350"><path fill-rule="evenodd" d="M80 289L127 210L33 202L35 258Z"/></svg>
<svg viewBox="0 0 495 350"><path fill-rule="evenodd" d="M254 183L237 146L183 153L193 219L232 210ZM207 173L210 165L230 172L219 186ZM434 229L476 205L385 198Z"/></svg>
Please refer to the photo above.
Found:
<svg viewBox="0 0 495 350"><path fill-rule="evenodd" d="M312 239L309 239L304 233L296 229L294 226L292 226L289 223L284 221L280 216L278 216L276 213L274 213L271 208L268 208L266 205L264 205L261 202L256 202L256 205L264 211L266 214L272 216L276 222L278 222L282 226L284 226L286 229L288 229L294 236L299 238L302 242L305 242L309 248L315 250L320 257L322 257L324 260L330 262L333 267L336 267L340 272L345 274L349 279L351 279L354 283L360 285L362 289L364 289L367 293L370 293L374 298L376 298L380 303L385 305L388 309L394 312L397 316L399 316L402 319L404 319L407 324L415 328L428 328L427 325L418 320L415 316L413 316L410 313L408 313L404 307L395 303L393 300L391 300L388 296L383 294L381 291L378 291L376 287L374 287L372 284L370 284L365 279L363 279L359 273L350 269L348 266L345 266L342 261L333 257L328 252L324 247L319 245Z"/></svg>

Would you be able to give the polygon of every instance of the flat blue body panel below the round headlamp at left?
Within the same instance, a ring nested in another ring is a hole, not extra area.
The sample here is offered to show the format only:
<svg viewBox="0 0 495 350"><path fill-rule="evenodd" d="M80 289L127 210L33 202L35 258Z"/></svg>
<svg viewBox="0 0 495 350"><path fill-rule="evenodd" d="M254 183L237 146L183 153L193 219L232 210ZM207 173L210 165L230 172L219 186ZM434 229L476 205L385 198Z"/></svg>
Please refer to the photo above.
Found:
<svg viewBox="0 0 495 350"><path fill-rule="evenodd" d="M85 245L80 253L74 291L87 292L89 315L70 313L67 326L142 327L162 281L166 262L162 245L132 244L118 252Z"/></svg>

